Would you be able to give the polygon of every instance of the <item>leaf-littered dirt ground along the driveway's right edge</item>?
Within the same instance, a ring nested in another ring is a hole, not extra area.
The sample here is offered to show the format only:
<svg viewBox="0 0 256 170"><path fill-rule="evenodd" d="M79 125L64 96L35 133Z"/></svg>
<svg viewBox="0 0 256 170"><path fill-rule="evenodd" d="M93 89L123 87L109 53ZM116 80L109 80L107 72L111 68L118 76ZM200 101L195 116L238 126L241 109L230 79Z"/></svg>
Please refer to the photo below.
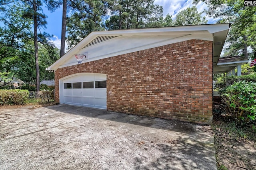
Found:
<svg viewBox="0 0 256 170"><path fill-rule="evenodd" d="M224 170L240 160L246 166L244 169L256 170L256 133L232 126L226 107L220 104L221 98L215 97L213 127L219 169Z"/></svg>

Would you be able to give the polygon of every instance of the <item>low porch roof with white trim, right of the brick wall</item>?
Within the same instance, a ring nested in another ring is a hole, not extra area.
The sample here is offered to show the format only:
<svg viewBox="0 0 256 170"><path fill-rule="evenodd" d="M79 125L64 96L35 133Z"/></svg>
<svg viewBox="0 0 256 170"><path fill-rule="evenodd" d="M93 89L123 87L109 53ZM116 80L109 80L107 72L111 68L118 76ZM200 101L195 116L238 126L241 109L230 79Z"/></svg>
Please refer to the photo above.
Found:
<svg viewBox="0 0 256 170"><path fill-rule="evenodd" d="M231 57L221 57L218 64L214 67L214 74L229 72L230 70L236 68L238 65L243 65L249 62L246 57L231 56Z"/></svg>

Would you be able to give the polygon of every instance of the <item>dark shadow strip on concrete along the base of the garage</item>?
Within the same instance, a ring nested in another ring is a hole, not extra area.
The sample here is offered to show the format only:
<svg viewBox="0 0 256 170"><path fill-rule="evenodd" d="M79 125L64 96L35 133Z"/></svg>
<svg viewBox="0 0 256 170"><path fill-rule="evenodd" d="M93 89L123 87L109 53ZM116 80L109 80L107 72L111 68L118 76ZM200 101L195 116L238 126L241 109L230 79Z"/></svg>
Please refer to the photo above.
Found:
<svg viewBox="0 0 256 170"><path fill-rule="evenodd" d="M196 126L204 127L204 125L196 125L194 123L187 123L182 121L160 119L148 116L132 115L125 113L117 113L113 111L106 111L104 109L96 109L91 107L82 107L82 106L72 106L72 105L56 105L47 107L56 111L61 111L64 113L94 117L98 119L117 121L121 123L129 123L133 125L140 125L145 127L152 127L157 129L164 129L168 131L176 131L180 133L191 134L196 132ZM208 125L206 125L208 127Z"/></svg>

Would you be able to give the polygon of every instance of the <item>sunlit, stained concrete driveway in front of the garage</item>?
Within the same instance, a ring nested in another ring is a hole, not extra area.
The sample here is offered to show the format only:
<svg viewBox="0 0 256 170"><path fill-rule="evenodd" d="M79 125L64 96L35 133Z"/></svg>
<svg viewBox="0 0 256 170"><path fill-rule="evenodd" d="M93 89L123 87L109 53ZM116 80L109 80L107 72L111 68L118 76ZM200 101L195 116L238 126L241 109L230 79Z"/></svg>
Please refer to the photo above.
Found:
<svg viewBox="0 0 256 170"><path fill-rule="evenodd" d="M208 132L88 107L0 108L0 169L216 170Z"/></svg>

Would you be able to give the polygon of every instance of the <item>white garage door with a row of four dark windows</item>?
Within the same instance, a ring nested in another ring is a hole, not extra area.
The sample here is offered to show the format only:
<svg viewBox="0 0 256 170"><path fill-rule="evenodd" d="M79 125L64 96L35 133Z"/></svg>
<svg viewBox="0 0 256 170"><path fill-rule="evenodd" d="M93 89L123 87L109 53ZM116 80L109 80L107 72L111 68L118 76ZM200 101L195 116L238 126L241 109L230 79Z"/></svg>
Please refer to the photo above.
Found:
<svg viewBox="0 0 256 170"><path fill-rule="evenodd" d="M61 84L64 104L107 108L106 74L78 74L62 80Z"/></svg>

